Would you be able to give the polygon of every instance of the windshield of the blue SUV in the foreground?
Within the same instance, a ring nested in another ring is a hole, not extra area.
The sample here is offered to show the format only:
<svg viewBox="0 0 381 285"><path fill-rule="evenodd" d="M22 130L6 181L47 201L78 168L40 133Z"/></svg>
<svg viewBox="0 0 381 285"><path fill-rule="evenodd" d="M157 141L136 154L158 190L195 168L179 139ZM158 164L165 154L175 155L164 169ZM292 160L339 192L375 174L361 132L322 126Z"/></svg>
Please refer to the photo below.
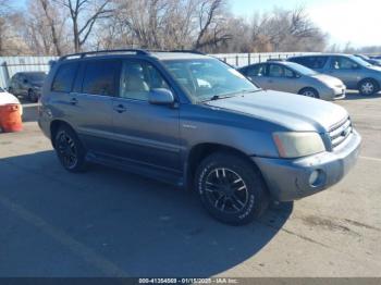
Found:
<svg viewBox="0 0 381 285"><path fill-rule="evenodd" d="M217 59L169 60L164 65L197 101L259 90L239 72Z"/></svg>

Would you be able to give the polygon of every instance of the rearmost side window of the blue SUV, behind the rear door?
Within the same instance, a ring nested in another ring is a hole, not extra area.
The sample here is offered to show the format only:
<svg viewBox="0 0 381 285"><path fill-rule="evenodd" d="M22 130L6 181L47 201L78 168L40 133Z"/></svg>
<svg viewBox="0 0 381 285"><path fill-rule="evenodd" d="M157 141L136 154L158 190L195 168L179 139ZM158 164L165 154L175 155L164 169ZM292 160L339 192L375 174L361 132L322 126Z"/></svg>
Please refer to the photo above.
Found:
<svg viewBox="0 0 381 285"><path fill-rule="evenodd" d="M78 64L75 62L62 64L53 79L51 90L56 92L70 92Z"/></svg>

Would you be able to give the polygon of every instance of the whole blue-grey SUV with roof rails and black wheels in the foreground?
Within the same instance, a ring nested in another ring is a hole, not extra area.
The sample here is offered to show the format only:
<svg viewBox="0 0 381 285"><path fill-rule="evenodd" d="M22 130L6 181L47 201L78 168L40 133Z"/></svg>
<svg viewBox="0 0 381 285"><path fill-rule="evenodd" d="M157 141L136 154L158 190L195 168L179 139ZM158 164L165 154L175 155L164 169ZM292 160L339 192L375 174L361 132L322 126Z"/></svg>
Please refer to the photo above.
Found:
<svg viewBox="0 0 381 285"><path fill-rule="evenodd" d="M67 171L96 162L188 187L231 224L251 221L270 199L334 185L361 140L343 108L261 90L193 52L63 57L40 103L39 126Z"/></svg>

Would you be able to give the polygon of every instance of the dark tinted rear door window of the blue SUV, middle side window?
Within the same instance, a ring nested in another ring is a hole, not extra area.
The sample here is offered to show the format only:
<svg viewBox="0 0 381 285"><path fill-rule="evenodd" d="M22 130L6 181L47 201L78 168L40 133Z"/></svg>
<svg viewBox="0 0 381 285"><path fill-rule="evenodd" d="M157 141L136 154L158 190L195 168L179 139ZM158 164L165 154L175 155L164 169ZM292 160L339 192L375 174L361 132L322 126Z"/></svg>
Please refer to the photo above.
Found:
<svg viewBox="0 0 381 285"><path fill-rule="evenodd" d="M120 62L90 61L86 64L82 91L84 94L115 96L116 78L119 79Z"/></svg>

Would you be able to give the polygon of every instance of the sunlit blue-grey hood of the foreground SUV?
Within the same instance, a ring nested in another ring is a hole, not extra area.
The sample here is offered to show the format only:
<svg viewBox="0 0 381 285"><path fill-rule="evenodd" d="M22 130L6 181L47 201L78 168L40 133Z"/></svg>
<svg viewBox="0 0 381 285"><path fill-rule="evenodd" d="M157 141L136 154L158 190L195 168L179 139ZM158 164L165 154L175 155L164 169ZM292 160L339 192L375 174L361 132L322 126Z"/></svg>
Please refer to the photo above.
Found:
<svg viewBox="0 0 381 285"><path fill-rule="evenodd" d="M208 101L206 104L266 120L294 132L325 133L348 116L344 108L334 103L272 90Z"/></svg>

